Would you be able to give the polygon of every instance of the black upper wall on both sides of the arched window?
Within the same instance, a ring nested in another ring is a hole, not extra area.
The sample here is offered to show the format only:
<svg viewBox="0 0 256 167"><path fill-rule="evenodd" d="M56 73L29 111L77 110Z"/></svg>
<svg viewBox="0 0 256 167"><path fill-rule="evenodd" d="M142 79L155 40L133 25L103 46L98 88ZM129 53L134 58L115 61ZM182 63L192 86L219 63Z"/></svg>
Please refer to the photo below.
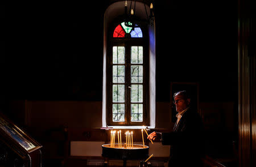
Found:
<svg viewBox="0 0 256 167"><path fill-rule="evenodd" d="M6 99L101 101L102 30L111 2L6 6ZM236 5L154 2L156 101L170 101L170 82L199 82L200 101L236 101Z"/></svg>

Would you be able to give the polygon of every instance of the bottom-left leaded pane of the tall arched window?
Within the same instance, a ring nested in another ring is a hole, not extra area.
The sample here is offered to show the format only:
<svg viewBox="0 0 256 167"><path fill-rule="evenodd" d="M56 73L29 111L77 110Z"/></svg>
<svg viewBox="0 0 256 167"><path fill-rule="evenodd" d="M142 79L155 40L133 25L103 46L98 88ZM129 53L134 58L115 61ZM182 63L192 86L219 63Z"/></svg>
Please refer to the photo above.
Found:
<svg viewBox="0 0 256 167"><path fill-rule="evenodd" d="M113 104L113 121L125 121L125 104Z"/></svg>

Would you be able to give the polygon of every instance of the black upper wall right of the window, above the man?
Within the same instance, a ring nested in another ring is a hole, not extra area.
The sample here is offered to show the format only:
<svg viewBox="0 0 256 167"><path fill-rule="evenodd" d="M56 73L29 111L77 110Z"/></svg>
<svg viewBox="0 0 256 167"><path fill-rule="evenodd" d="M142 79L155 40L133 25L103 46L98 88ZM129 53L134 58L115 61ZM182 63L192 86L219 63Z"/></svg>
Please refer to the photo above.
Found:
<svg viewBox="0 0 256 167"><path fill-rule="evenodd" d="M200 83L200 101L235 101L236 1L155 2L156 99L167 100L169 83L181 81Z"/></svg>

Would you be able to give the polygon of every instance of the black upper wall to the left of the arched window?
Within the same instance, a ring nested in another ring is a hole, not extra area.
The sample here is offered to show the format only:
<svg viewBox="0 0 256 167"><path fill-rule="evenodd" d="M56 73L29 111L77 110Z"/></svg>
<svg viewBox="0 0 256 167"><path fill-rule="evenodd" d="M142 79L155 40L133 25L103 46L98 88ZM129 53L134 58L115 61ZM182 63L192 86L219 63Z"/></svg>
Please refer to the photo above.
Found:
<svg viewBox="0 0 256 167"><path fill-rule="evenodd" d="M6 6L8 98L101 101L103 18L94 2Z"/></svg>

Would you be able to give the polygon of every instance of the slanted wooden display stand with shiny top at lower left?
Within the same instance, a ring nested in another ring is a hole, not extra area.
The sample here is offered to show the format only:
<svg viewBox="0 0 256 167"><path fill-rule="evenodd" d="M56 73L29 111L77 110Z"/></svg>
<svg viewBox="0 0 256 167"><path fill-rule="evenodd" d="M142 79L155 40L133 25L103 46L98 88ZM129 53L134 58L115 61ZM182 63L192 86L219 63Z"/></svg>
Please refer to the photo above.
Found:
<svg viewBox="0 0 256 167"><path fill-rule="evenodd" d="M42 145L0 114L0 165L42 166Z"/></svg>

